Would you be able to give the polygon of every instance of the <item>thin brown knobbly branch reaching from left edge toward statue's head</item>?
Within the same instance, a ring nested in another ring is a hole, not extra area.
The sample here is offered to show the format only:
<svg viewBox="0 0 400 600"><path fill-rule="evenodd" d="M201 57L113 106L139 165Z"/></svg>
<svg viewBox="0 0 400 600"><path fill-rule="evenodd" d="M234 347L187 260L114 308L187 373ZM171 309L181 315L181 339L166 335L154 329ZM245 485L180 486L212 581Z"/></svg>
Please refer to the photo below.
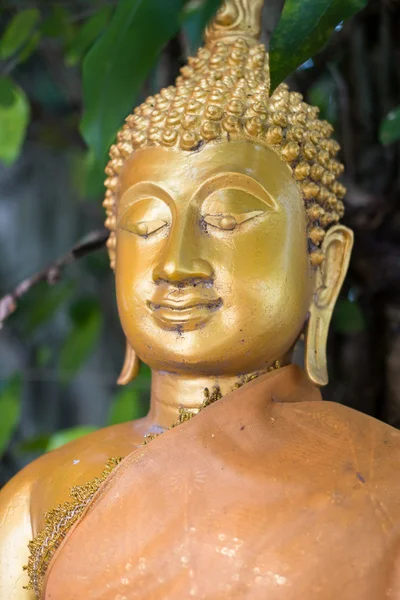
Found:
<svg viewBox="0 0 400 600"><path fill-rule="evenodd" d="M19 285L10 294L6 294L0 300L0 328L3 323L18 307L18 300L20 300L31 288L38 283L46 281L49 285L54 285L60 278L64 268L80 258L95 252L105 246L109 232L106 229L100 231L92 231L88 233L80 242L78 242L67 254L64 254L56 260L56 262L50 264L48 267L35 273L31 277L21 281Z"/></svg>

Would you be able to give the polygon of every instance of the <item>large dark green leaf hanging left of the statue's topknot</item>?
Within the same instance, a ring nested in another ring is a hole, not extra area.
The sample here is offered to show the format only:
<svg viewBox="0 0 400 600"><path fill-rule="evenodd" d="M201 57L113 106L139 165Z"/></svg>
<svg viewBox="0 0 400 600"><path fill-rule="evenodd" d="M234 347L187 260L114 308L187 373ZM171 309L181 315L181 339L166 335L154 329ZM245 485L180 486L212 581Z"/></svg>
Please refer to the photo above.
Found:
<svg viewBox="0 0 400 600"><path fill-rule="evenodd" d="M179 29L184 0L120 0L83 61L81 133L102 162L166 42Z"/></svg>

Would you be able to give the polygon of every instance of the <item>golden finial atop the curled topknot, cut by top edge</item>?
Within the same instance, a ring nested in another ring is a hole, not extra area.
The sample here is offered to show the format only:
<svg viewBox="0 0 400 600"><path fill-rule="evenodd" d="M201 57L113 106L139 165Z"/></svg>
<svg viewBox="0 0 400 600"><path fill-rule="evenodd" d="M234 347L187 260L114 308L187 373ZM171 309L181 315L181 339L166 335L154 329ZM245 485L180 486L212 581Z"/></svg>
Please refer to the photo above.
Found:
<svg viewBox="0 0 400 600"><path fill-rule="evenodd" d="M258 42L263 4L264 0L225 0L206 29L206 45L237 37Z"/></svg>

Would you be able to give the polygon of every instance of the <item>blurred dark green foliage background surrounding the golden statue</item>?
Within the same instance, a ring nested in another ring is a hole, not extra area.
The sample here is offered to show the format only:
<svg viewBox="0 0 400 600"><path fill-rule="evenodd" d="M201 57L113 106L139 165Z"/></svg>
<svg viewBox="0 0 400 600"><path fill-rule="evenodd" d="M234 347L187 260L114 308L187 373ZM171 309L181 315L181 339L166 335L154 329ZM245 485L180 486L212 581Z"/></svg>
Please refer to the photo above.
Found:
<svg viewBox="0 0 400 600"><path fill-rule="evenodd" d="M148 368L130 386L115 385L124 338L106 251L74 261L68 252L89 232L104 238L107 149L132 108L173 83L218 5L0 0L0 296L59 257L71 263L23 294L0 332L0 485L40 453L146 413ZM331 328L324 397L394 426L399 31L398 0L265 1L273 85L288 79L320 108L347 168L345 223L355 250Z"/></svg>

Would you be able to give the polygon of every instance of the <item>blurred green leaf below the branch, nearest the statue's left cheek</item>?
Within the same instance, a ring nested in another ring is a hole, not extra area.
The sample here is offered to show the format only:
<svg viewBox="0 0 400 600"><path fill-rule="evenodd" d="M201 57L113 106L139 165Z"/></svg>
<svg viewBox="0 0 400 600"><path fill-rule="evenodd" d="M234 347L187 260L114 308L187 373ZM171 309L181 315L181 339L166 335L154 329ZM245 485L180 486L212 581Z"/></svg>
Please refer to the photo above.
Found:
<svg viewBox="0 0 400 600"><path fill-rule="evenodd" d="M73 328L60 352L60 376L69 382L88 359L99 340L102 315L98 303L91 300L77 302L71 311Z"/></svg>

